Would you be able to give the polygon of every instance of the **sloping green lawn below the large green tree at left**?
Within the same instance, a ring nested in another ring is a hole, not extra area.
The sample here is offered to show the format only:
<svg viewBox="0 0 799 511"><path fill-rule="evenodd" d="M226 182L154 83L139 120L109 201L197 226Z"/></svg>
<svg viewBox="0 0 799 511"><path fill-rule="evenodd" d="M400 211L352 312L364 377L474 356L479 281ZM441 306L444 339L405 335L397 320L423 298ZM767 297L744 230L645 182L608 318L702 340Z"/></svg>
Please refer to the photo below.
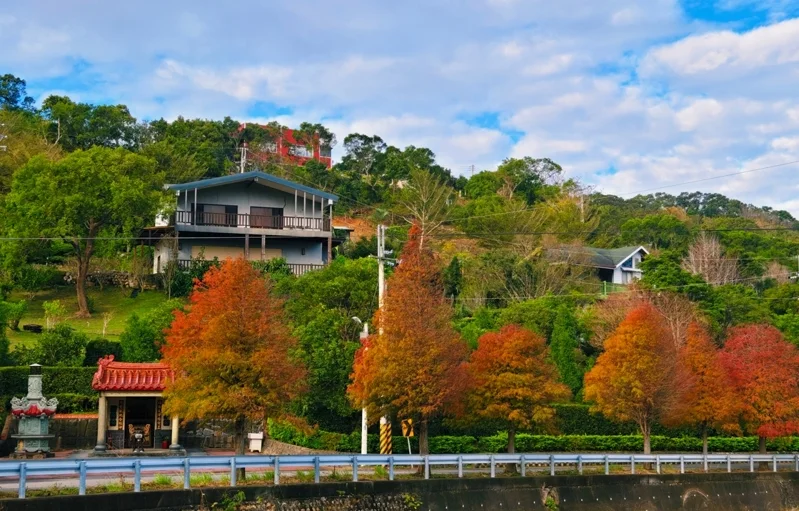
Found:
<svg viewBox="0 0 799 511"><path fill-rule="evenodd" d="M100 337L103 333L103 313L111 313L111 318L106 327L105 338L118 340L119 335L125 330L125 322L133 314L143 314L150 309L166 301L167 297L160 291L143 291L136 298L131 298L130 289L120 289L115 287L89 289L89 299L94 301L95 311L91 318L77 319L68 317L64 322L71 325L80 332L89 335L90 338ZM42 303L49 300L61 300L67 311L73 314L78 310L78 301L75 296L75 288L71 286L57 287L36 293L33 299L28 299L21 293L12 293L11 300L27 300L28 312L20 321L20 331L13 332L8 330L8 338L11 347L16 344L32 346L38 334L22 331L22 325L37 324L44 325L44 309Z"/></svg>

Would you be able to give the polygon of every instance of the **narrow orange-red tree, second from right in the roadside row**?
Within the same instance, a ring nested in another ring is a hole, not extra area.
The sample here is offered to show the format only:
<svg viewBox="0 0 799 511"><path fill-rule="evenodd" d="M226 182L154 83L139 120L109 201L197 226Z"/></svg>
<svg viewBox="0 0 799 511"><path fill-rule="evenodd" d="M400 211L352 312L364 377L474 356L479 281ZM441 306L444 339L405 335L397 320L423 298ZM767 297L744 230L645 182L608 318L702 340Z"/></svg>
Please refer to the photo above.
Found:
<svg viewBox="0 0 799 511"><path fill-rule="evenodd" d="M677 354L677 367L663 423L695 425L702 429L702 452L707 454L709 428L737 432L741 402L721 364L719 350L698 323L688 327L685 344Z"/></svg>

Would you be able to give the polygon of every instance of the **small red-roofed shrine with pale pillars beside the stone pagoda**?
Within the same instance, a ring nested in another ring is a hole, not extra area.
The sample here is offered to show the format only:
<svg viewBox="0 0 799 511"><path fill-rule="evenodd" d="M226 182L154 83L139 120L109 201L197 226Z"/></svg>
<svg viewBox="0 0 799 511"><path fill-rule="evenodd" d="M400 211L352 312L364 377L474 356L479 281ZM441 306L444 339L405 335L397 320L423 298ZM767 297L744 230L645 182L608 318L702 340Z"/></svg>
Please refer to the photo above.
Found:
<svg viewBox="0 0 799 511"><path fill-rule="evenodd" d="M146 448L166 441L180 450L180 420L162 413L164 389L174 378L166 364L116 362L113 355L100 359L92 378L92 388L100 392L95 451L133 447L135 434L143 435Z"/></svg>

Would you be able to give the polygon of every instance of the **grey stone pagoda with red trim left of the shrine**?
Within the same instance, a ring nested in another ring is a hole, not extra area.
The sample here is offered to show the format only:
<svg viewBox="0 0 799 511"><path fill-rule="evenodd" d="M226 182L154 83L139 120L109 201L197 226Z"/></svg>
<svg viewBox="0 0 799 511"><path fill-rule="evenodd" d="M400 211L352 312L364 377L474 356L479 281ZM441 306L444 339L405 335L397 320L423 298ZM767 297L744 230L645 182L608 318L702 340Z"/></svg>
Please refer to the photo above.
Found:
<svg viewBox="0 0 799 511"><path fill-rule="evenodd" d="M11 413L19 419L16 435L17 449L12 458L47 458L50 452L50 418L58 406L57 399L47 399L42 395L42 366L32 364L28 375L28 395L11 399Z"/></svg>

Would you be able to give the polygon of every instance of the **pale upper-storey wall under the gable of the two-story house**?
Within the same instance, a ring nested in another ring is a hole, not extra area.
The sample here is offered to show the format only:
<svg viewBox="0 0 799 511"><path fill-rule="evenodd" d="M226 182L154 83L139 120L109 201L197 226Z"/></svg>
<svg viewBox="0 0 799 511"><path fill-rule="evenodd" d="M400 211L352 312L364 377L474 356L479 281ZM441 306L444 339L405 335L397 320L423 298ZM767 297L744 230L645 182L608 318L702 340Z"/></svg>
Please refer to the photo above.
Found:
<svg viewBox="0 0 799 511"><path fill-rule="evenodd" d="M188 204L186 203L187 194ZM177 198L177 210L191 211L192 203L194 203L194 190L181 192L180 197ZM239 214L249 214L251 206L283 208L284 216L309 218L313 204L313 217L321 218L324 199L316 197L315 203L312 203L311 195L306 194L305 214L303 214L302 192L297 193L297 210L295 211L293 193L286 193L259 183L233 183L197 190L197 203L238 206Z"/></svg>

